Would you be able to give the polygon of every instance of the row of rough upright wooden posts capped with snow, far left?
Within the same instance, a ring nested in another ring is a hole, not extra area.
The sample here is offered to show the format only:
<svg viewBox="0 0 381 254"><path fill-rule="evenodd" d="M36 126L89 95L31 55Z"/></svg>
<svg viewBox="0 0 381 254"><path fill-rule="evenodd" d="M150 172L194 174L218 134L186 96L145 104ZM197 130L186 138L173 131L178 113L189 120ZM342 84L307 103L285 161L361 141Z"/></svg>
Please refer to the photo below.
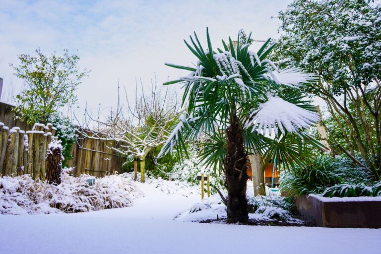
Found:
<svg viewBox="0 0 381 254"><path fill-rule="evenodd" d="M17 176L30 174L33 179L46 177L46 150L57 139L56 128L35 124L32 130L9 129L0 123L0 174Z"/></svg>

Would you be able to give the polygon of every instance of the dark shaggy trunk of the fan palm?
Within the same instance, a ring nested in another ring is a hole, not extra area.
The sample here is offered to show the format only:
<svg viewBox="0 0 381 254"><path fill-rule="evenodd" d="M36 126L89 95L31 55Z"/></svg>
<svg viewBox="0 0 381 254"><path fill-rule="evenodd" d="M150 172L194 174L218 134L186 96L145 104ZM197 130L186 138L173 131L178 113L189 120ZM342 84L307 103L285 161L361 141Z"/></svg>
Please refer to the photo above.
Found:
<svg viewBox="0 0 381 254"><path fill-rule="evenodd" d="M244 129L239 124L236 115L233 115L226 133L227 146L224 170L228 189L228 222L245 222L249 219L248 201L246 199L247 155L244 150Z"/></svg>

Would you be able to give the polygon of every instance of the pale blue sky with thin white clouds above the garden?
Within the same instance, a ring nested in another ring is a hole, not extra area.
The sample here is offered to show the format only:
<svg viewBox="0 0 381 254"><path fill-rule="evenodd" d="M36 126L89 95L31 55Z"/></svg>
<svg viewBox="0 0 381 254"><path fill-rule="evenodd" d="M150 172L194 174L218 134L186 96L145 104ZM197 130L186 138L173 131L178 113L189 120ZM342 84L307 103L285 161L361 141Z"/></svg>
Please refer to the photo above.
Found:
<svg viewBox="0 0 381 254"><path fill-rule="evenodd" d="M165 62L195 61L183 39L196 31L205 42L209 27L212 44L236 37L238 30L253 32L253 38L277 38L278 11L291 0L0 0L0 77L4 79L1 100L16 95L22 81L13 76L9 63L17 55L45 54L63 49L77 54L82 68L91 69L78 86L78 105L83 109L101 103L115 105L117 83L133 96L135 78L145 86L156 73L158 83L184 75ZM260 46L260 43L252 46Z"/></svg>

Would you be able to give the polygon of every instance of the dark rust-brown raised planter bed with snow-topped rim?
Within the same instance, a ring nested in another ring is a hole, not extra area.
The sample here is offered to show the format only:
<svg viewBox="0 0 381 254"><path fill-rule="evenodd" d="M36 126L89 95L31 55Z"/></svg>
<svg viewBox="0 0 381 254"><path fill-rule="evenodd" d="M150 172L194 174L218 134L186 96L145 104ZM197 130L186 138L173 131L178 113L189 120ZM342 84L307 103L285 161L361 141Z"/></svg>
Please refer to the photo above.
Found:
<svg viewBox="0 0 381 254"><path fill-rule="evenodd" d="M381 197L301 195L297 209L318 227L381 228Z"/></svg>

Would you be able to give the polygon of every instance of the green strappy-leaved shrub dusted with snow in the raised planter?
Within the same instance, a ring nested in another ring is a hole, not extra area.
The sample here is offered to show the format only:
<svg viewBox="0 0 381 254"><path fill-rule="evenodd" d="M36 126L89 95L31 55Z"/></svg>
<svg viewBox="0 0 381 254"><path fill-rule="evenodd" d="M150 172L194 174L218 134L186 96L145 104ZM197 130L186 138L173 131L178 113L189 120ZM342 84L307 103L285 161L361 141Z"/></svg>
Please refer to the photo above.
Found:
<svg viewBox="0 0 381 254"><path fill-rule="evenodd" d="M288 195L367 196L373 195L369 191L373 184L371 171L354 167L345 156L319 155L305 166L280 174L280 189Z"/></svg>

